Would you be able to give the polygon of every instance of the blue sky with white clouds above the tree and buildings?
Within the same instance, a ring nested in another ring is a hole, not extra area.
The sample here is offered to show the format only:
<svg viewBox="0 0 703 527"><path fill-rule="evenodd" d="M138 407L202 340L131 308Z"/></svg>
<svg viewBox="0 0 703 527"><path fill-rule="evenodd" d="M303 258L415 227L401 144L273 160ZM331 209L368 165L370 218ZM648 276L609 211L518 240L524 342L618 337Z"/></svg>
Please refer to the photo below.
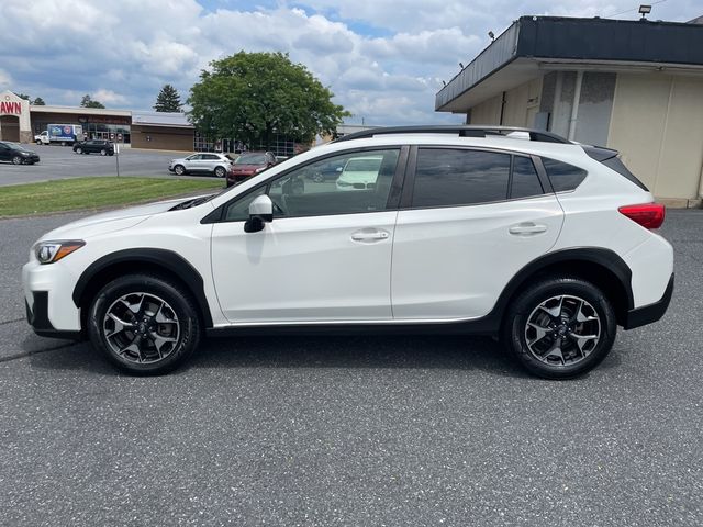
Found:
<svg viewBox="0 0 703 527"><path fill-rule="evenodd" d="M651 2L655 3L655 2ZM636 19L627 0L3 0L0 90L78 105L148 110L164 83L185 100L209 61L281 51L353 113L350 123L460 122L434 112L442 80L523 14ZM701 0L654 4L684 22Z"/></svg>

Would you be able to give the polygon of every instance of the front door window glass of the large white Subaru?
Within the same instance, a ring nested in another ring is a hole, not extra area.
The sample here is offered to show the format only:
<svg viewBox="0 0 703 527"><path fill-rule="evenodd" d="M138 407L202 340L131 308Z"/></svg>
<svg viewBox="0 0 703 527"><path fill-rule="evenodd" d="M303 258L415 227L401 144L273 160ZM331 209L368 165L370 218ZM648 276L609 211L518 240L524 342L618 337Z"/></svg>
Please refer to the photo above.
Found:
<svg viewBox="0 0 703 527"><path fill-rule="evenodd" d="M399 156L399 149L371 150L305 165L232 202L225 211L225 221L247 220L248 204L263 193L271 198L275 217L383 211ZM342 170L331 171L331 162L343 167Z"/></svg>

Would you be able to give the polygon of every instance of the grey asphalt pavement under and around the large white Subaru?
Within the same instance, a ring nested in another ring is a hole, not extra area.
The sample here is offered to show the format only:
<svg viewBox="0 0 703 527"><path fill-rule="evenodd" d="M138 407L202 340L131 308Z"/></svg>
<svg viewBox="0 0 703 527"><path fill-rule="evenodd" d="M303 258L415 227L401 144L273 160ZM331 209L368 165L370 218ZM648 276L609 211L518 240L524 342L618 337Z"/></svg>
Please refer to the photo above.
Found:
<svg viewBox="0 0 703 527"><path fill-rule="evenodd" d="M665 224L666 317L566 382L461 337L213 339L116 374L23 319L30 246L72 217L0 222L1 525L703 525L703 211Z"/></svg>

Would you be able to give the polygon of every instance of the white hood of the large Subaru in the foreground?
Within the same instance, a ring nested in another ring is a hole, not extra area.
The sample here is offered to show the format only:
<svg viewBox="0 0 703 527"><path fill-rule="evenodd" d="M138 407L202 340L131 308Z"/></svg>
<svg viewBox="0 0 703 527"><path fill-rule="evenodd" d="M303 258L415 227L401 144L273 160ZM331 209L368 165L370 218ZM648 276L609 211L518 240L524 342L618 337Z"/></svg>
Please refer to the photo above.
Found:
<svg viewBox="0 0 703 527"><path fill-rule="evenodd" d="M177 203L191 199L179 198L177 200L159 201L157 203L93 214L55 228L42 236L41 239L81 239L97 234L130 228L154 214L167 212Z"/></svg>

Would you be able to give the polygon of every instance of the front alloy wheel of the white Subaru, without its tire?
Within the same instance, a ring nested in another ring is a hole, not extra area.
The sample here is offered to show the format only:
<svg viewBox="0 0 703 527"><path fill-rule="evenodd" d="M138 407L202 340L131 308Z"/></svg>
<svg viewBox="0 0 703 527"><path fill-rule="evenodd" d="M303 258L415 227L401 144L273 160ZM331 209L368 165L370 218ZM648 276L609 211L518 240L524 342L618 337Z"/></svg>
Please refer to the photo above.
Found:
<svg viewBox="0 0 703 527"><path fill-rule="evenodd" d="M180 323L164 299L144 292L120 296L102 322L103 335L112 351L123 360L157 362L174 352Z"/></svg>

